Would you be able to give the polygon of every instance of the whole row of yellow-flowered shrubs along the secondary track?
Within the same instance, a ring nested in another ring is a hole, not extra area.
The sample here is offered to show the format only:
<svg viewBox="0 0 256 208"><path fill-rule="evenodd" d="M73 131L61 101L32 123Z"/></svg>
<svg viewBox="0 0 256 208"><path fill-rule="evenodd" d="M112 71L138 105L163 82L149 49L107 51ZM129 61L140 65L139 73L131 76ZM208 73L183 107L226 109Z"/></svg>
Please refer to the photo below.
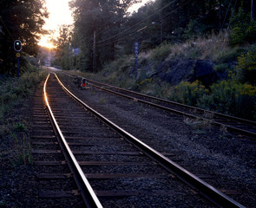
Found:
<svg viewBox="0 0 256 208"><path fill-rule="evenodd" d="M171 87L168 98L222 114L256 119L256 88L250 84L226 80L206 89L198 81L181 82L176 87Z"/></svg>

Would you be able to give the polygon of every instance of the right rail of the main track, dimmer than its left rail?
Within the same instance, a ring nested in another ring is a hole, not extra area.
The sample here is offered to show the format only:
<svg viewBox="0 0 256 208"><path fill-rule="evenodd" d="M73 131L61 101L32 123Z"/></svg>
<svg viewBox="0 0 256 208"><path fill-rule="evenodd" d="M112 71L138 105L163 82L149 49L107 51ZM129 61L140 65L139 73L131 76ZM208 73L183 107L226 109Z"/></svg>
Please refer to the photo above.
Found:
<svg viewBox="0 0 256 208"><path fill-rule="evenodd" d="M56 74L55 74L56 75ZM147 155L153 159L156 159L162 166L167 168L168 171L174 172L176 176L184 181L187 185L195 188L200 194L206 198L208 198L210 201L212 201L215 205L218 205L220 207L240 207L244 208L245 206L240 205L239 202L233 200L233 198L229 198L224 194L223 192L220 192L216 188L214 188L212 185L207 184L207 182L203 181L202 179L195 176L193 173L188 172L183 167L179 166L178 164L174 163L171 159L168 159L163 154L158 153L154 148L151 146L148 146L141 140L137 139L132 134L126 132L121 127L118 127L114 122L111 120L108 120L106 117L104 117L102 114L99 114L96 112L92 107L89 107L87 104L85 104L82 100L77 98L74 94L72 94L68 88L66 88L62 81L59 80L59 78L56 75L56 79L59 82L59 84L62 86L62 88L71 96L75 101L80 103L83 107L85 107L89 112L92 114L95 114L96 117L98 117L100 120L102 120L104 123L108 125L108 127L111 127L114 129L117 133L120 133L124 138L127 140L130 140L135 146L139 147L141 150L143 150L144 153L147 153Z"/></svg>

